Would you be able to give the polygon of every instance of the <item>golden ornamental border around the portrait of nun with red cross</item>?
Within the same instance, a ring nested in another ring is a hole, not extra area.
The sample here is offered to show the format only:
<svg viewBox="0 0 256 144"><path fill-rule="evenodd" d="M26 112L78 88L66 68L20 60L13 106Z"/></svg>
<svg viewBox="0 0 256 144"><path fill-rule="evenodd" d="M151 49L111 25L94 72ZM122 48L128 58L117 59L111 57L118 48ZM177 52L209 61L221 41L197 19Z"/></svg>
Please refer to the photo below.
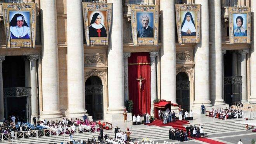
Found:
<svg viewBox="0 0 256 144"><path fill-rule="evenodd" d="M89 10L100 10L107 12L107 37L90 37L89 36ZM111 21L112 21L112 3L90 3L83 2L83 21L85 27L85 40L86 45L108 45L109 44L109 33L111 31Z"/></svg>

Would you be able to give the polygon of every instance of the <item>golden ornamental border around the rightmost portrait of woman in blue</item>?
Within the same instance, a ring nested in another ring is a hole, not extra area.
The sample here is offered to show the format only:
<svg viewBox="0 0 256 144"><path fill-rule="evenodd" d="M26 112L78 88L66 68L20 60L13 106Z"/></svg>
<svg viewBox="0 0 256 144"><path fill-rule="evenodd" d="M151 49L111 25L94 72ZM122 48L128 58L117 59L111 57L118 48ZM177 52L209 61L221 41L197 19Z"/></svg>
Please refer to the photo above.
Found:
<svg viewBox="0 0 256 144"><path fill-rule="evenodd" d="M228 7L229 43L251 43L251 7ZM247 36L234 36L233 14L247 14Z"/></svg>

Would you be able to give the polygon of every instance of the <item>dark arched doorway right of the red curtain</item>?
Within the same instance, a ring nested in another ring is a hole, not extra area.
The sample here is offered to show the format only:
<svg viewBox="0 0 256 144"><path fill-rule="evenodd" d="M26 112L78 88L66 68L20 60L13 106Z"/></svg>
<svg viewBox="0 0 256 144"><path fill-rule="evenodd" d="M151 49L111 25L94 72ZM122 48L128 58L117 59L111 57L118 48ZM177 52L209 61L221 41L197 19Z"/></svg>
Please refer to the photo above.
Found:
<svg viewBox="0 0 256 144"><path fill-rule="evenodd" d="M189 77L185 72L176 75L176 102L186 111L190 111Z"/></svg>

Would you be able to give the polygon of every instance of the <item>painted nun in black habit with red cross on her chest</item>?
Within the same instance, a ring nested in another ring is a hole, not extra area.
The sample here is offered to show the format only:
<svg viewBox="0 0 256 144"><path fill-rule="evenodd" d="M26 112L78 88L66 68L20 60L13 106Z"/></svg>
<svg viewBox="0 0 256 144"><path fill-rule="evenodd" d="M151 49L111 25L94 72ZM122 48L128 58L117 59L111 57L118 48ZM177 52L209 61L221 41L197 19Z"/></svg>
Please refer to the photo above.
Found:
<svg viewBox="0 0 256 144"><path fill-rule="evenodd" d="M89 26L90 37L107 37L106 27L102 21L102 15L96 12L92 16Z"/></svg>

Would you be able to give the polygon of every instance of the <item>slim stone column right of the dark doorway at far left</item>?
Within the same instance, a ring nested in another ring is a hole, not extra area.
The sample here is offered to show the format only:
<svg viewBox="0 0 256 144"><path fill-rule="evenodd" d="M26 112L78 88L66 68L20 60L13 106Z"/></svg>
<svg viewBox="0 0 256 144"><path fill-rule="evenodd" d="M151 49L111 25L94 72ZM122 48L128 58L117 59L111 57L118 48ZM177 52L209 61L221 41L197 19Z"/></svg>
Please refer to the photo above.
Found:
<svg viewBox="0 0 256 144"><path fill-rule="evenodd" d="M38 100L37 100L37 75L36 75L36 60L38 55L29 55L30 61L30 84L31 84L31 122L33 117L38 117Z"/></svg>

